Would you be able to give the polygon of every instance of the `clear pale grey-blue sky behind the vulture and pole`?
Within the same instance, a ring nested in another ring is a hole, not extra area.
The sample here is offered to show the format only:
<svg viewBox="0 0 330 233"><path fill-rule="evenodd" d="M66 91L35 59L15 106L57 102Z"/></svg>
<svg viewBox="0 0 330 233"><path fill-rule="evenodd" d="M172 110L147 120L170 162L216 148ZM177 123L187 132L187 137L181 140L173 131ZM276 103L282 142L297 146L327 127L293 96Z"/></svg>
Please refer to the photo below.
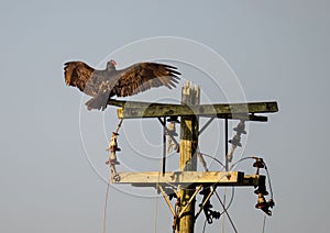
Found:
<svg viewBox="0 0 330 233"><path fill-rule="evenodd" d="M80 110L81 93L65 86L63 64L79 59L98 66L116 49L154 36L207 45L230 65L246 100L278 101L279 112L268 123L249 125L246 146L238 152L262 156L271 169L276 206L265 232L327 232L329 13L330 3L320 0L2 2L0 232L101 232L106 133L116 127L116 110ZM135 57L112 58L124 67ZM205 74L175 65L183 79L201 86L202 100L226 101ZM179 88L136 99L173 101ZM124 122L121 130L120 169L157 170L161 126L135 123ZM204 133L205 152L221 154L221 125L215 122ZM238 168L254 171L251 162ZM168 208L148 196L155 190L111 186L107 232L169 232ZM263 214L255 201L253 188L235 189L229 212L239 232L261 232ZM220 208L216 199L212 204ZM202 223L201 215L196 232ZM216 221L206 232L221 229L222 221ZM232 232L228 221L226 232Z"/></svg>

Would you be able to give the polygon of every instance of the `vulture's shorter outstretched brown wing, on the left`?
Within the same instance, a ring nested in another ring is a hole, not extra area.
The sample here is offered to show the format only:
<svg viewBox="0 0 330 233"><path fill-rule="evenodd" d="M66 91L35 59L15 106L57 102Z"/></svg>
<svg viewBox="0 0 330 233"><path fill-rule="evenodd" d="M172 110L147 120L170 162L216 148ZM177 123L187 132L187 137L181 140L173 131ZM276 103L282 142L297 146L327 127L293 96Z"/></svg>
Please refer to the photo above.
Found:
<svg viewBox="0 0 330 233"><path fill-rule="evenodd" d="M82 62L68 62L64 64L64 77L67 86L77 87L80 91L95 96L95 88L91 87L91 77L95 69Z"/></svg>

